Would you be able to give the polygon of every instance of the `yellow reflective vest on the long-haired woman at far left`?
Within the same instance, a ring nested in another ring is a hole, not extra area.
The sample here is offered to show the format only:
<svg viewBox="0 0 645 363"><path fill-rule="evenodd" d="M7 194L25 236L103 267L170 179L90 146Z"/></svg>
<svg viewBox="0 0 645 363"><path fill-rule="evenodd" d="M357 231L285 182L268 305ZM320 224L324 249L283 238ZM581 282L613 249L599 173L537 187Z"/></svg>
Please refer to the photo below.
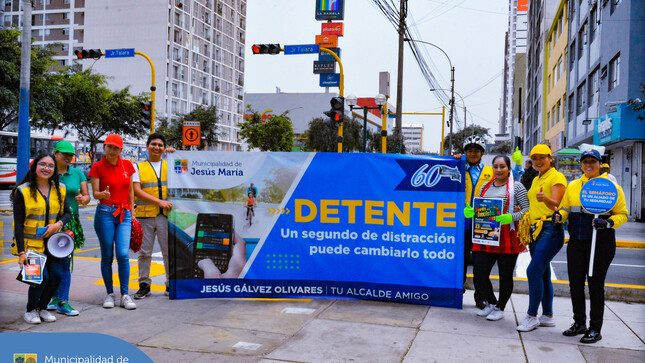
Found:
<svg viewBox="0 0 645 363"><path fill-rule="evenodd" d="M56 217L63 215L67 189L65 189L64 184L60 184L59 189L61 200L58 200L56 187L50 185L47 201L38 192L36 193L36 199L34 199L29 190L29 183L18 187L18 191L22 193L22 197L25 200L25 223L22 227L25 234L25 251L45 252L45 241L42 237L36 237L36 230L38 227L46 227L48 224L56 223ZM47 212L49 212L49 219L47 219Z"/></svg>

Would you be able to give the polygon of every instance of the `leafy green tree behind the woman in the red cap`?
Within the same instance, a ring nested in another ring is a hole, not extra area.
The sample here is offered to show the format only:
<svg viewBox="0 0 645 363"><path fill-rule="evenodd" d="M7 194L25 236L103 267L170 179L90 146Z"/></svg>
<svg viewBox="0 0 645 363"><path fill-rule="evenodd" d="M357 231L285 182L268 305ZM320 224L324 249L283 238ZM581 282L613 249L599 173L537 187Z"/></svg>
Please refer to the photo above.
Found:
<svg viewBox="0 0 645 363"><path fill-rule="evenodd" d="M39 128L69 127L78 131L78 138L89 142L92 157L95 146L109 133L140 138L146 130L139 122L139 102L148 98L130 94L129 87L113 92L107 77L92 73L59 71L52 75L56 107L60 118L34 120Z"/></svg>

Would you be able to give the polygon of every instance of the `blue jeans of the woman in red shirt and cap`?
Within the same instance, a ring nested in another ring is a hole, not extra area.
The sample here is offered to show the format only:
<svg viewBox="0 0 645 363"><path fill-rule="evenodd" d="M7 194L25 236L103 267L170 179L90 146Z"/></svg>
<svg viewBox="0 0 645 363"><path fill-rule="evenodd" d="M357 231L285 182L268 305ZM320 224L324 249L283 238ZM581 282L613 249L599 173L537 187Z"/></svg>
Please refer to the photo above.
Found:
<svg viewBox="0 0 645 363"><path fill-rule="evenodd" d="M94 229L101 245L101 275L107 293L114 292L112 261L114 261L114 251L116 250L121 295L128 295L130 283L128 249L130 248L130 233L132 231L132 212L125 210L123 222L121 222L119 216L112 215L116 209L116 207L99 204L94 214Z"/></svg>

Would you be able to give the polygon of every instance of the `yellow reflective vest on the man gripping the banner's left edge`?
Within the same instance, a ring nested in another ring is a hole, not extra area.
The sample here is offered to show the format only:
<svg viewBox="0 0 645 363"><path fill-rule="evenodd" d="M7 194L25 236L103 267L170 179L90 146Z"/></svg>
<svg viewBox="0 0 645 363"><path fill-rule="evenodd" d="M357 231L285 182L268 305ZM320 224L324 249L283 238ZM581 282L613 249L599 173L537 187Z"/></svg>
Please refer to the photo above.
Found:
<svg viewBox="0 0 645 363"><path fill-rule="evenodd" d="M161 161L161 176L157 176L149 161L137 163L137 167L139 168L141 190L155 198L168 200L168 163L165 160ZM156 204L142 200L139 197L136 197L135 201L137 208L134 210L134 215L137 218L156 217L159 213L168 216L168 211Z"/></svg>

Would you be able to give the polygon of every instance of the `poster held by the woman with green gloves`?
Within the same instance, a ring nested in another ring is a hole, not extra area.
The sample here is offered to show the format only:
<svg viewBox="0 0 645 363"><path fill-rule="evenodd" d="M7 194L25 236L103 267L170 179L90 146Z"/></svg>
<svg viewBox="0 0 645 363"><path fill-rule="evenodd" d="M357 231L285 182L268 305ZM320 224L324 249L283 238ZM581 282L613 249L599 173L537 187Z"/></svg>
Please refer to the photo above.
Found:
<svg viewBox="0 0 645 363"><path fill-rule="evenodd" d="M473 200L473 243L499 246L501 224L495 217L502 214L504 200L499 198L475 198Z"/></svg>

